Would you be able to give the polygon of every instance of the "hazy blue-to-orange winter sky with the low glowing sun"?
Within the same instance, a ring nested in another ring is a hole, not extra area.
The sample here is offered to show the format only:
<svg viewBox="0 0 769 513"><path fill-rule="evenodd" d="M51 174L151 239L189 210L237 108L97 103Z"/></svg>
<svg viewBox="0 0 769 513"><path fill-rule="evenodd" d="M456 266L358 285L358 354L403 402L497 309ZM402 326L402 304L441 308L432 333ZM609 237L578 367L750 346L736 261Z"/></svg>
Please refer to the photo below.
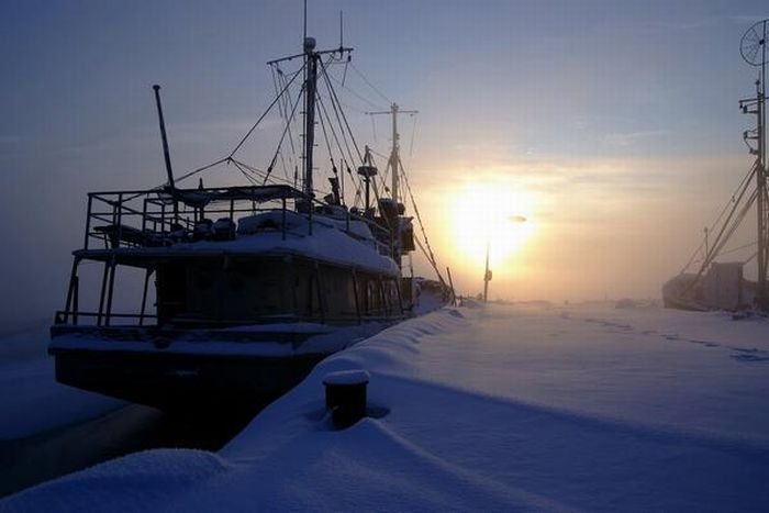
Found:
<svg viewBox="0 0 769 513"><path fill-rule="evenodd" d="M739 41L765 2L310 1L319 47L339 11L367 80L350 74L358 137L386 154L365 112L419 110L402 156L462 293L488 239L491 298L658 298L751 164ZM265 63L301 38L298 0L2 0L0 325L63 306L88 191L165 180L153 83L174 167L193 169L241 138L272 99ZM247 156L266 167L267 147Z"/></svg>

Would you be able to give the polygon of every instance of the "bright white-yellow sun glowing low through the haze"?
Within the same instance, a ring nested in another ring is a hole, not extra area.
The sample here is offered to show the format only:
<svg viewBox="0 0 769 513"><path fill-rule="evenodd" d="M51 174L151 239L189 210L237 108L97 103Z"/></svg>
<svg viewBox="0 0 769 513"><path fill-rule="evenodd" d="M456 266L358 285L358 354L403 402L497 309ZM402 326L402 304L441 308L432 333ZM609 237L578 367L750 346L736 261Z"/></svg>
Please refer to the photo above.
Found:
<svg viewBox="0 0 769 513"><path fill-rule="evenodd" d="M452 239L455 248L473 267L493 268L515 253L535 231L531 197L498 183L472 183L452 201Z"/></svg>

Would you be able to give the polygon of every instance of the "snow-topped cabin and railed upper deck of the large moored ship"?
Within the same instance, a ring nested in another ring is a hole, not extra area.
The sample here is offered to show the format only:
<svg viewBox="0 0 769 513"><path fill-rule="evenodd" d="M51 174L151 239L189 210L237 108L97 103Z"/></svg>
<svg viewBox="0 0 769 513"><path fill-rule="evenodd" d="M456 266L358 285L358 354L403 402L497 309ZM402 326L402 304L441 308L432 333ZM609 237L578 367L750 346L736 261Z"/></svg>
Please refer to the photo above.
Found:
<svg viewBox="0 0 769 513"><path fill-rule="evenodd" d="M308 203L288 186L89 193L52 334L402 319L382 223Z"/></svg>

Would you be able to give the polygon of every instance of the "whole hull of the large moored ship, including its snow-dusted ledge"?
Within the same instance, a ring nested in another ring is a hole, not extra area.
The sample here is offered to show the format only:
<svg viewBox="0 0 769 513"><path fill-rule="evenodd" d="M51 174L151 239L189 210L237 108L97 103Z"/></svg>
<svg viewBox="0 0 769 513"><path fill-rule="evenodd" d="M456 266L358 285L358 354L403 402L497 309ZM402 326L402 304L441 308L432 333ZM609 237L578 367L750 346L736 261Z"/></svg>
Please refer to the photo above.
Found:
<svg viewBox="0 0 769 513"><path fill-rule="evenodd" d="M313 367L399 320L252 330L59 327L48 353L60 383L169 412L253 411Z"/></svg>

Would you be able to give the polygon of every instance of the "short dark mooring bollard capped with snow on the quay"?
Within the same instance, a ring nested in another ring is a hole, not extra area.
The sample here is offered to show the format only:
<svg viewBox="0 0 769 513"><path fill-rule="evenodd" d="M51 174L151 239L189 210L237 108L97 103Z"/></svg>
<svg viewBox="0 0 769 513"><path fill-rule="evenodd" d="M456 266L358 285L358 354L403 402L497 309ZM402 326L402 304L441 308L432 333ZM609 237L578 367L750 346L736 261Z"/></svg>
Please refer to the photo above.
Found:
<svg viewBox="0 0 769 513"><path fill-rule="evenodd" d="M370 376L365 370L339 370L323 378L326 409L337 427L349 427L366 416L366 387Z"/></svg>

